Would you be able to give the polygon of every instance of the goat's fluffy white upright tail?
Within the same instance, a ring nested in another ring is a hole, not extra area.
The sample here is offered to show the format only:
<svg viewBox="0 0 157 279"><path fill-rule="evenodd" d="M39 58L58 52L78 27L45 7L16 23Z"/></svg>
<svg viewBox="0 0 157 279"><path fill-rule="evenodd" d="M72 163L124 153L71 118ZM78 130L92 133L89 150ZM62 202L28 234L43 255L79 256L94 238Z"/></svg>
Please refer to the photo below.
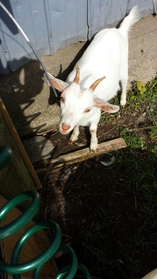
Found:
<svg viewBox="0 0 157 279"><path fill-rule="evenodd" d="M138 6L134 6L129 15L124 18L119 29L124 35L128 35L128 32L131 29L131 26L141 18Z"/></svg>

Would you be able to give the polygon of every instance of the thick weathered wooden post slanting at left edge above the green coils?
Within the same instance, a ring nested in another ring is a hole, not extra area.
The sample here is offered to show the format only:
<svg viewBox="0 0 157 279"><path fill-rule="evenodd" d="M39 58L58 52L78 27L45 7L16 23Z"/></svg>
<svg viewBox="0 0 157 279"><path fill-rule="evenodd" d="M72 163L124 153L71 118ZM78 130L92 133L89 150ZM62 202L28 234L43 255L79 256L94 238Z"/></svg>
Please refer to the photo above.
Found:
<svg viewBox="0 0 157 279"><path fill-rule="evenodd" d="M0 171L0 194L10 199L26 190L41 188L38 176L1 99L0 145L12 150L10 162Z"/></svg>

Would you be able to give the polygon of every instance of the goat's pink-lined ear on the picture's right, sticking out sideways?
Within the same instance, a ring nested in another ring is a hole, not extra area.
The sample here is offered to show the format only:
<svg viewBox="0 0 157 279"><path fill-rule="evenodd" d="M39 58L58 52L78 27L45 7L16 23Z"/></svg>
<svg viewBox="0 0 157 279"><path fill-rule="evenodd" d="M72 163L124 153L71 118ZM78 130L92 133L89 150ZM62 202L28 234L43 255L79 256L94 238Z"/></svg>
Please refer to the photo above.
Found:
<svg viewBox="0 0 157 279"><path fill-rule="evenodd" d="M118 105L111 105L108 102L106 102L100 98L97 98L96 96L94 96L94 107L101 108L101 110L104 110L104 111L110 112L110 113L113 113L113 112L116 112L119 110Z"/></svg>

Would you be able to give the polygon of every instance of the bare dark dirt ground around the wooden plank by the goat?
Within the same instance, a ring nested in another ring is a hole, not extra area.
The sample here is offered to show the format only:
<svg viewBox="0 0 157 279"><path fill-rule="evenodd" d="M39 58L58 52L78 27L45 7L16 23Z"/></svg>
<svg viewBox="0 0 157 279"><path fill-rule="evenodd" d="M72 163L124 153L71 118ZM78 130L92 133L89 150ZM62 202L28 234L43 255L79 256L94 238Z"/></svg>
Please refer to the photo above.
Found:
<svg viewBox="0 0 157 279"><path fill-rule="evenodd" d="M136 129L136 135L145 137L147 142L148 130L141 128L147 127L149 123L142 115L143 112L135 114L134 111L128 113L125 110L120 110L116 116L105 113L97 130L99 143L120 137L120 131L126 127L129 130ZM106 117L110 120L106 121ZM79 140L73 145L69 144L70 135L61 135L58 127L56 131L48 133L47 137L56 145L53 158L90 145L89 128L80 128ZM137 160L140 160L141 156L143 158L147 156L145 154L142 150L137 152ZM124 273L119 271L120 268L117 269L117 264L121 265L123 260L118 258L115 251L118 244L126 248L129 255L130 248L126 247L128 245L126 239L132 237L135 230L143 225L143 213L135 209L134 194L123 184L127 177L125 164L116 162L113 167L101 164L100 160L107 161L109 157L111 155L104 154L99 160L94 158L70 167L40 173L42 183L40 215L41 218L52 219L60 225L63 234L67 235L63 237L63 242L69 243L74 248L79 262L88 267L93 278L130 278L128 267L123 266ZM64 177L65 169L69 174ZM102 235L99 235L97 226L102 222L105 225ZM50 237L50 232L47 233ZM97 233L95 243L92 242L93 233ZM105 250L106 256L105 267L101 264L102 261L97 262L97 253L100 258L101 251L89 253L98 243L104 243L102 249ZM133 278L141 278L156 268L152 260L154 252L150 256L141 246L137 251L136 260L140 260L141 270L138 271L139 277ZM56 261L60 266L61 262L65 264L67 260L63 255Z"/></svg>

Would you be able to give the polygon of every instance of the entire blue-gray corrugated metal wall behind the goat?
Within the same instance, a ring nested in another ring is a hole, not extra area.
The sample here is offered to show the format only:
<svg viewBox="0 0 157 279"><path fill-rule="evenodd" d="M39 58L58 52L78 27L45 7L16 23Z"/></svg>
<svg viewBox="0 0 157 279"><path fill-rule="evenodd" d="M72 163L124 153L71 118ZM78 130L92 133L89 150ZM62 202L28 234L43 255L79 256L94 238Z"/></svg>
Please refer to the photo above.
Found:
<svg viewBox="0 0 157 279"><path fill-rule="evenodd" d="M23 28L40 56L69 44L90 40L106 26L115 26L138 5L143 17L157 11L157 0L1 0ZM35 59L34 53L0 8L0 74Z"/></svg>

